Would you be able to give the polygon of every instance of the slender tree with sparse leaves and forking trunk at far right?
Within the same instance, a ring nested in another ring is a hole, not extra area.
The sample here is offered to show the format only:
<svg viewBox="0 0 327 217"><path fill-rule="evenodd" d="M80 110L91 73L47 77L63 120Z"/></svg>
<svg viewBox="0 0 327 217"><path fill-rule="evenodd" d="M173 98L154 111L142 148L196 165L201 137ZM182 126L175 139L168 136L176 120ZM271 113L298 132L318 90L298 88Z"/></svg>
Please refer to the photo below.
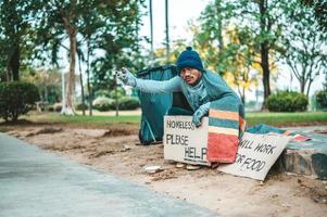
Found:
<svg viewBox="0 0 327 217"><path fill-rule="evenodd" d="M300 91L309 95L315 78L327 73L327 33L319 29L313 10L299 0L289 1L285 12L281 53L300 82Z"/></svg>

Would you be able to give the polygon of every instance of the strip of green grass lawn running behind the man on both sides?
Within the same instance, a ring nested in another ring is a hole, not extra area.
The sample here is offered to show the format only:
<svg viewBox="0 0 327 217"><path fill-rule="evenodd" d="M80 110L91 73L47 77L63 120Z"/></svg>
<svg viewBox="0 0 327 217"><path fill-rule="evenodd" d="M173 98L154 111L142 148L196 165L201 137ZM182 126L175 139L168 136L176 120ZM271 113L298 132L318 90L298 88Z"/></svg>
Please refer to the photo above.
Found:
<svg viewBox="0 0 327 217"><path fill-rule="evenodd" d="M95 116L63 116L58 113L29 113L28 115L20 117L17 124L61 124L87 128L138 128L140 123L140 115L100 115ZM305 125L327 125L327 112L304 112L304 113L247 113L246 119L249 126L256 124L267 124L277 127L287 126L305 126ZM26 122L27 120L27 122ZM0 124L5 126L7 124Z"/></svg>

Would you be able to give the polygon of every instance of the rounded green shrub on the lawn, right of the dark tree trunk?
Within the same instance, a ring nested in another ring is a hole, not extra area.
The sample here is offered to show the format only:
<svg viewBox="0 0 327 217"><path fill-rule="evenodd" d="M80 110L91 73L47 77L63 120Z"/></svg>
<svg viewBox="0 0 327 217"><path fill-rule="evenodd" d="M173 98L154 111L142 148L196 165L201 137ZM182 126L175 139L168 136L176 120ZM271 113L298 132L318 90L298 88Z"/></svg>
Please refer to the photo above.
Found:
<svg viewBox="0 0 327 217"><path fill-rule="evenodd" d="M307 98L294 91L278 91L269 95L267 102L271 112L304 112L307 104Z"/></svg>

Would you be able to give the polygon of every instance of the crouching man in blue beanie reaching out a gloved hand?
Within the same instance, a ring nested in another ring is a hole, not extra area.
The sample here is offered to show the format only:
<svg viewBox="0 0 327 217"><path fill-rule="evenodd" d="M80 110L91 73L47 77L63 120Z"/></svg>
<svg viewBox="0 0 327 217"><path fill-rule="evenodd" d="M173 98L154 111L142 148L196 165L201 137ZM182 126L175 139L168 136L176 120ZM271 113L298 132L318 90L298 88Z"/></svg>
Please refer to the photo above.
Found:
<svg viewBox="0 0 327 217"><path fill-rule="evenodd" d="M158 81L139 79L127 68L122 68L121 72L117 72L117 77L125 85L137 88L142 92L183 92L190 105L190 110L172 107L168 111L168 115L192 115L192 123L196 127L201 126L202 117L209 115L211 107L218 108L219 112L223 111L223 113L225 111L237 112L240 117L243 117L243 105L239 97L218 74L214 74L211 71L203 68L199 53L193 51L191 47L188 47L180 53L176 66L180 74L169 80ZM226 116L226 114L223 113L218 114L215 112L218 116L216 115L214 117L215 119L210 119L210 123L214 122L213 124L219 127L219 129L222 127L229 128L231 125L235 126L235 123L226 123L226 118L229 120L229 117L227 117L228 114ZM223 114L223 118L219 116L221 114ZM241 128L240 136L241 131L243 131L243 126ZM235 136L235 133L232 136ZM228 137L228 135L226 137ZM227 140L228 138L226 140L224 139L224 141ZM213 159L215 161L215 158Z"/></svg>

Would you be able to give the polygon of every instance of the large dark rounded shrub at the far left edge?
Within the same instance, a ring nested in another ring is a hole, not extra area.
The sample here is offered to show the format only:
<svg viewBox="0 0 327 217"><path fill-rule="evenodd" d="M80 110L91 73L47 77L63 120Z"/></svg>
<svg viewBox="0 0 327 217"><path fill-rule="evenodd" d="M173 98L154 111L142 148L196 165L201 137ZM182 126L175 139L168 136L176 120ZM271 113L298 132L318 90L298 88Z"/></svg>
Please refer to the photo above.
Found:
<svg viewBox="0 0 327 217"><path fill-rule="evenodd" d="M15 122L39 100L35 85L22 81L0 82L0 117Z"/></svg>

